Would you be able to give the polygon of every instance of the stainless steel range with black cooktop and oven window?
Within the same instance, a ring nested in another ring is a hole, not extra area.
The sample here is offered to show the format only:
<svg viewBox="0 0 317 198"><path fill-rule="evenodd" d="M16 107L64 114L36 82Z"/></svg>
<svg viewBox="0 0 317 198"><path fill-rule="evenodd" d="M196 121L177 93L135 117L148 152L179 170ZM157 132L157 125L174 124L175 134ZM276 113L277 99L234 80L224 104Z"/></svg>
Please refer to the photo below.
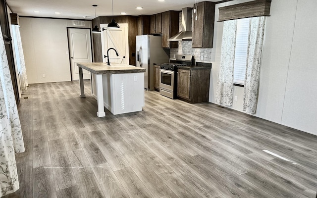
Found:
<svg viewBox="0 0 317 198"><path fill-rule="evenodd" d="M192 55L177 55L170 63L160 64L159 94L171 99L177 98L177 67L193 65Z"/></svg>

